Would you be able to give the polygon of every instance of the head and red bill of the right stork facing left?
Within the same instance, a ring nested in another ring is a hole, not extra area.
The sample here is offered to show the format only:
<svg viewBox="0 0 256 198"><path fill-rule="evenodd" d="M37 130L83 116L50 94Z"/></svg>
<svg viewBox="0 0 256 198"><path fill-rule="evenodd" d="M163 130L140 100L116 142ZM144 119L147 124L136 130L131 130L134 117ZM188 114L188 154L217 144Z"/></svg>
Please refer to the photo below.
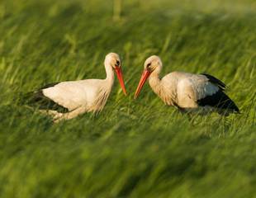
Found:
<svg viewBox="0 0 256 198"><path fill-rule="evenodd" d="M139 85L135 92L135 98L139 96L142 87L150 75L159 74L162 70L163 64L159 56L152 55L146 59L144 64L144 71L141 75Z"/></svg>

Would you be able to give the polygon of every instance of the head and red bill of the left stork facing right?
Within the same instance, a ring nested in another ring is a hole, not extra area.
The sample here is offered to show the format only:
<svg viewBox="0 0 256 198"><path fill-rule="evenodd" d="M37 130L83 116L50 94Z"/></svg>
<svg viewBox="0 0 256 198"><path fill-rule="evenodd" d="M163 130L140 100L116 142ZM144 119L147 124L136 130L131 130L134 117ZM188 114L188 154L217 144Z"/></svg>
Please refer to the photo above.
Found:
<svg viewBox="0 0 256 198"><path fill-rule="evenodd" d="M120 82L121 88L122 88L123 92L125 93L125 95L127 95L125 82L123 79L123 73L121 70L121 59L120 59L119 55L116 53L112 53L112 52L107 54L107 56L105 58L105 66L106 67L111 66L111 69L114 69L116 71L116 76Z"/></svg>

